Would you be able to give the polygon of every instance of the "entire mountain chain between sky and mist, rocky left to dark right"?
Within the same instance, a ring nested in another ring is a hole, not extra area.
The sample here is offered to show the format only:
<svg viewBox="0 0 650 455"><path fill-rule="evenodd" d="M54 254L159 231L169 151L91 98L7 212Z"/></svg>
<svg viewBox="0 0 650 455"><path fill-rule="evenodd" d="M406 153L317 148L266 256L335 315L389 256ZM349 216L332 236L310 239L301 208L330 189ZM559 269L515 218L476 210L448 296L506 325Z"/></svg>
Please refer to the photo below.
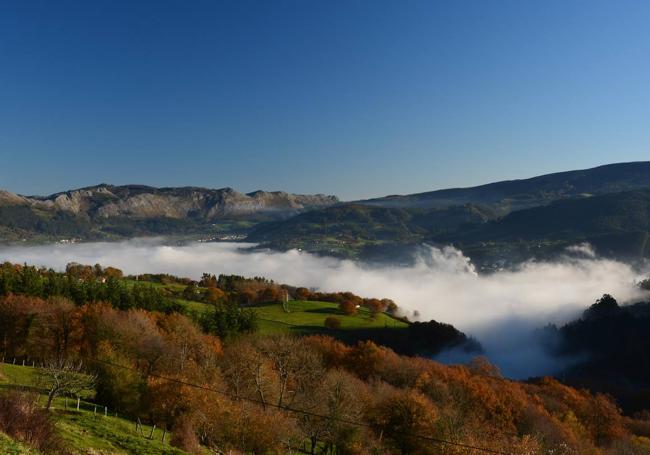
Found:
<svg viewBox="0 0 650 455"><path fill-rule="evenodd" d="M481 266L558 254L650 256L650 162L352 202L231 188L97 186L50 196L0 192L0 240L179 235L277 250L402 261L453 244Z"/></svg>

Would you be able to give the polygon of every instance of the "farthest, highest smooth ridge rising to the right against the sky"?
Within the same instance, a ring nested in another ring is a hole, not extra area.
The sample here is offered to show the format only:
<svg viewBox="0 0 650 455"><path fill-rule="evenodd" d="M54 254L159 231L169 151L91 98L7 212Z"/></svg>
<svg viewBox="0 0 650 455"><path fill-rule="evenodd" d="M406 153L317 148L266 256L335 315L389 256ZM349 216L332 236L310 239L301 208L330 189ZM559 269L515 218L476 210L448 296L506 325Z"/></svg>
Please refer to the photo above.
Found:
<svg viewBox="0 0 650 455"><path fill-rule="evenodd" d="M406 196L358 201L378 207L434 208L483 204L503 211L544 205L583 195L650 187L650 161L616 163L591 169L559 172L470 188L451 188Z"/></svg>

